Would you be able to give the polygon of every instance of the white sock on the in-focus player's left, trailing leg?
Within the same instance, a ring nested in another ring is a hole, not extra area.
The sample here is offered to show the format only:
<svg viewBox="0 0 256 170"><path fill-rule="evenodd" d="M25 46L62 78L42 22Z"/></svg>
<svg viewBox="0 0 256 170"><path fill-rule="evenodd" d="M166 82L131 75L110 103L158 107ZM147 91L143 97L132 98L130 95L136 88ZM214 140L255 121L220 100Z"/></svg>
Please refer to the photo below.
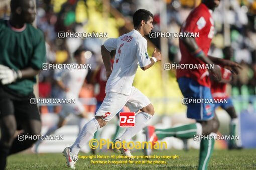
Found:
<svg viewBox="0 0 256 170"><path fill-rule="evenodd" d="M71 153L74 155L77 155L80 151L80 149L88 142L92 139L92 137L94 136L94 133L100 129L99 123L98 121L93 118L91 121L89 121L87 124L85 124L85 126L83 127L83 129L81 130L81 132L79 133L75 143L71 146Z"/></svg>

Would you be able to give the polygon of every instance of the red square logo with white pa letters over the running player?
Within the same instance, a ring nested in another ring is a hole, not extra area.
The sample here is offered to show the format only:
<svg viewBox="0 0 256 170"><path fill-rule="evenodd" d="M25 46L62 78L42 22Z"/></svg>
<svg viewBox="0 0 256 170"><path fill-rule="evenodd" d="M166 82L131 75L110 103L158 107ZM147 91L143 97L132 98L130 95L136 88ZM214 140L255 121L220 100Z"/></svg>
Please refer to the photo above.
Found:
<svg viewBox="0 0 256 170"><path fill-rule="evenodd" d="M134 127L135 112L120 112L120 126L121 127Z"/></svg>

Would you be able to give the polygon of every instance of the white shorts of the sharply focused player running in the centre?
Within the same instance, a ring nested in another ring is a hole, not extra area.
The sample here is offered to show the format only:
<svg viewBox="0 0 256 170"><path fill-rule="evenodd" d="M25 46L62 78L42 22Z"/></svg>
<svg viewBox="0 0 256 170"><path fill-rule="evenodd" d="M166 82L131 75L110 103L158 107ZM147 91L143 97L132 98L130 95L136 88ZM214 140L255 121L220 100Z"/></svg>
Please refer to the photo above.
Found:
<svg viewBox="0 0 256 170"><path fill-rule="evenodd" d="M110 121L124 106L136 113L150 103L150 100L135 87L132 87L130 95L108 92L95 116Z"/></svg>

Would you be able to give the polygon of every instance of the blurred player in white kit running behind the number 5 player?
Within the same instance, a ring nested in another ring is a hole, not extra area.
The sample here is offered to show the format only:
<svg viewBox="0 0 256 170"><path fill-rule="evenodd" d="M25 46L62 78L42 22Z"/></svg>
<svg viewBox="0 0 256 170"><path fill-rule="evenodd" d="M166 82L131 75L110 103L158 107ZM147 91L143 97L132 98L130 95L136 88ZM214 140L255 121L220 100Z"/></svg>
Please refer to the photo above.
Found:
<svg viewBox="0 0 256 170"><path fill-rule="evenodd" d="M74 53L75 63L71 64L86 64L85 60L85 50L77 49ZM44 134L45 136L53 134L57 129L64 126L69 115L72 113L80 117L79 130L83 127L86 121L83 118L87 118L87 113L83 104L79 101L79 92L84 83L86 75L88 74L88 69L61 69L55 70L54 79L57 86L59 87L63 99L75 99L74 104L62 104L61 112L59 113L59 122L53 127L49 128ZM35 144L35 152L38 153L38 147L42 140L38 140Z"/></svg>

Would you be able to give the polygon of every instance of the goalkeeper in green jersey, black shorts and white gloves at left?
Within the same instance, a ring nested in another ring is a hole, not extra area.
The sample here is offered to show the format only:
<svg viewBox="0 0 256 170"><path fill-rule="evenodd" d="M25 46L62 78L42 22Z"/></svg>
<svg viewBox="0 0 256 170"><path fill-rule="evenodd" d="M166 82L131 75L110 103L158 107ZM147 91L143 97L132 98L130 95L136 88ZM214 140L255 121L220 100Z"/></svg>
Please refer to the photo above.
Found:
<svg viewBox="0 0 256 170"><path fill-rule="evenodd" d="M45 41L41 31L32 26L36 11L33 0L11 0L10 20L0 20L0 169L8 155L29 148L35 140L16 137L40 135L41 120L33 85L45 62ZM21 140L21 141L19 141Z"/></svg>

